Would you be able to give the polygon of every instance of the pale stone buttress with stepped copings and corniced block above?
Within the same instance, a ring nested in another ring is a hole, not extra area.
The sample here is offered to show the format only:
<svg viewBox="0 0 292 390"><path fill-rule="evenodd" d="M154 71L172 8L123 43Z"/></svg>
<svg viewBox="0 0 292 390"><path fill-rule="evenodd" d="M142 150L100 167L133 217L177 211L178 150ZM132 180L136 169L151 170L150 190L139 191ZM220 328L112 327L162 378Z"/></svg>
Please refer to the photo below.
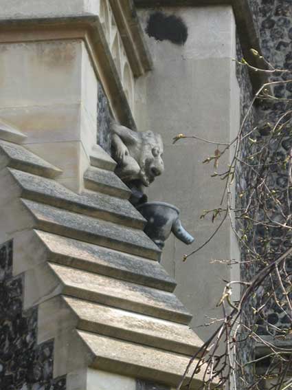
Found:
<svg viewBox="0 0 292 390"><path fill-rule="evenodd" d="M129 26L124 9L91 5L12 2L1 14L0 241L12 243L24 313L37 308L38 344L54 341L52 380L67 390L175 387L202 342L131 191L96 145L98 83L130 126L133 75L150 59L137 19Z"/></svg>

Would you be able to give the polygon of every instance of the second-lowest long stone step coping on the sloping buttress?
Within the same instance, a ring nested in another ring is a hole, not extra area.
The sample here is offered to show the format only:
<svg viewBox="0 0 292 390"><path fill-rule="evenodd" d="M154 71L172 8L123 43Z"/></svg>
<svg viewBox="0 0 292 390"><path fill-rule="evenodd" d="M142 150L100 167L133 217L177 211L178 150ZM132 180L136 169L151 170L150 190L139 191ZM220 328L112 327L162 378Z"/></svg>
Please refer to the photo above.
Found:
<svg viewBox="0 0 292 390"><path fill-rule="evenodd" d="M127 312L71 296L63 296L63 299L78 317L77 327L80 330L190 356L203 345L203 341L188 325Z"/></svg>

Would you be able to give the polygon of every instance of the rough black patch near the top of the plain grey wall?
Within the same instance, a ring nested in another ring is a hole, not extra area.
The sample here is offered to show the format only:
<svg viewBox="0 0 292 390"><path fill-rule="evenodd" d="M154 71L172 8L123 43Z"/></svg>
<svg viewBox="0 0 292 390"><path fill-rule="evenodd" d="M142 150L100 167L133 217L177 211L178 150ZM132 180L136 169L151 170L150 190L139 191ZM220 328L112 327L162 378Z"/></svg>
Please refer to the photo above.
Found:
<svg viewBox="0 0 292 390"><path fill-rule="evenodd" d="M188 27L183 19L163 12L150 14L146 33L157 41L170 41L175 45L183 45L188 39Z"/></svg>

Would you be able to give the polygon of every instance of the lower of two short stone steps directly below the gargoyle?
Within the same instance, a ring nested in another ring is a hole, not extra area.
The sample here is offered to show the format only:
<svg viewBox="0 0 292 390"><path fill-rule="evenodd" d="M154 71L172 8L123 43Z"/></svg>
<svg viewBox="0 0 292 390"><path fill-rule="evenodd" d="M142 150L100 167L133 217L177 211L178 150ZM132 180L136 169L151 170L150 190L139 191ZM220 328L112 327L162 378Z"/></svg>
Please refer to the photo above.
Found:
<svg viewBox="0 0 292 390"><path fill-rule="evenodd" d="M128 199L131 196L131 190L120 180L114 172L91 167L87 169L84 175L85 188L91 191L106 193Z"/></svg>

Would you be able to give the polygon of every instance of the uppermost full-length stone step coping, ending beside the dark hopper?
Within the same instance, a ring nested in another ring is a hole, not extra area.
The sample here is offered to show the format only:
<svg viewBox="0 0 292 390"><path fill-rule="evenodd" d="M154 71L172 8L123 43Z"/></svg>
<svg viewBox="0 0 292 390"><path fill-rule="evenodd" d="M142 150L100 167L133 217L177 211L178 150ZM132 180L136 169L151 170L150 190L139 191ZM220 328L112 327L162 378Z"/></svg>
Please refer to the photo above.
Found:
<svg viewBox="0 0 292 390"><path fill-rule="evenodd" d="M66 210L112 221L116 224L143 229L145 219L126 199L105 194L76 194L55 180L8 168L21 186L21 197L65 208Z"/></svg>

